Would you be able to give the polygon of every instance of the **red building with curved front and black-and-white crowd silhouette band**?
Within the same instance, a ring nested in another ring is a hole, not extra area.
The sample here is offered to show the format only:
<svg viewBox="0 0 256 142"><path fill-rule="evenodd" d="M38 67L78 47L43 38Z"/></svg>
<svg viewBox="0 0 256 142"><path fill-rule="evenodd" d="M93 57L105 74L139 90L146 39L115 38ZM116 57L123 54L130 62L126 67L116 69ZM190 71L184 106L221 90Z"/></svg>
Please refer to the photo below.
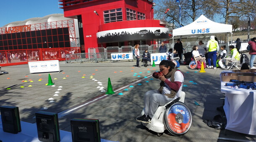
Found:
<svg viewBox="0 0 256 142"><path fill-rule="evenodd" d="M88 48L155 44L169 38L154 19L153 0L59 0L64 16L78 19L81 52Z"/></svg>

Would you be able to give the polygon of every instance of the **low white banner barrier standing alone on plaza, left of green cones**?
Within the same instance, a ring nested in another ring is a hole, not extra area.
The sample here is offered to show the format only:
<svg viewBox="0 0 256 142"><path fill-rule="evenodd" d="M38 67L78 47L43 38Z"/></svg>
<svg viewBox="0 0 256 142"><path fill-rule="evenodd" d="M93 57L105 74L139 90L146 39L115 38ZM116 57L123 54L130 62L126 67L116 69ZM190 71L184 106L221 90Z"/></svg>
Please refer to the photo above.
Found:
<svg viewBox="0 0 256 142"><path fill-rule="evenodd" d="M33 62L28 62L28 64L29 64L30 74L60 71L59 60L33 61Z"/></svg>

